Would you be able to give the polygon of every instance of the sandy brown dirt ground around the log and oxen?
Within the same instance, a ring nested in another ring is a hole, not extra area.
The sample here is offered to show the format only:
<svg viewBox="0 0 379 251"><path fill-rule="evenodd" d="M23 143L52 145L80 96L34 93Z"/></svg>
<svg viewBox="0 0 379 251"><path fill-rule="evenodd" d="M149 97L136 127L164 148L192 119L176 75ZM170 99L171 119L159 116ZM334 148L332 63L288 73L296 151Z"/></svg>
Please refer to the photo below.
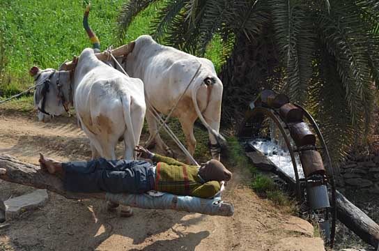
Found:
<svg viewBox="0 0 379 251"><path fill-rule="evenodd" d="M32 115L0 111L0 153L37 164L40 151L58 160L91 157L88 139L75 118L40 123ZM117 212L105 210L104 201L69 200L49 192L46 206L0 229L0 251L285 250L280 248L282 239L301 235L284 227L290 216L254 194L248 186L248 170L229 168L233 180L223 199L234 204L233 217L134 208L131 218L120 218ZM3 200L32 190L0 180ZM297 248L291 250L315 250L302 245L308 239L295 241Z"/></svg>

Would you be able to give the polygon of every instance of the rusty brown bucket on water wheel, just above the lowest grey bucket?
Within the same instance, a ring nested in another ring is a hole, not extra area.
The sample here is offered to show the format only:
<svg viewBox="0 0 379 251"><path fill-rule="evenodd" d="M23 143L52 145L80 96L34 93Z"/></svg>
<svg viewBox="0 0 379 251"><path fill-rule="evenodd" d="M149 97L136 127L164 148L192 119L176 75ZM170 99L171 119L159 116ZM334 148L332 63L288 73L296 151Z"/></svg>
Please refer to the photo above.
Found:
<svg viewBox="0 0 379 251"><path fill-rule="evenodd" d="M318 151L307 150L300 152L300 161L302 162L305 178L308 178L312 174L325 174L323 158L321 158Z"/></svg>

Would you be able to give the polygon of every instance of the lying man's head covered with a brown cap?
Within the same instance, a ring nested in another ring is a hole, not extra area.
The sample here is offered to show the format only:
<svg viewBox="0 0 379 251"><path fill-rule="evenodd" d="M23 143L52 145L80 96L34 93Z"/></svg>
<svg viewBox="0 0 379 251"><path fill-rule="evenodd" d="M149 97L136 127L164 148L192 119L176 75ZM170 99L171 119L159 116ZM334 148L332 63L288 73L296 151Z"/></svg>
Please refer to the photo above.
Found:
<svg viewBox="0 0 379 251"><path fill-rule="evenodd" d="M229 181L231 179L231 172L217 160L202 163L199 174L204 181Z"/></svg>

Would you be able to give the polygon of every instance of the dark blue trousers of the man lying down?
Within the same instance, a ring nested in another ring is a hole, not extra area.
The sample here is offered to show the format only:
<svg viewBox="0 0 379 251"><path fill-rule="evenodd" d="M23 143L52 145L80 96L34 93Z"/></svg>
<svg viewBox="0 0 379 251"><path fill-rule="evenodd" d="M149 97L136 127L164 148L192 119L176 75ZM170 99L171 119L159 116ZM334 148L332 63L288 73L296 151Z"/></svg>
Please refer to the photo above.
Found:
<svg viewBox="0 0 379 251"><path fill-rule="evenodd" d="M154 189L153 165L143 160L63 162L65 190L143 193Z"/></svg>

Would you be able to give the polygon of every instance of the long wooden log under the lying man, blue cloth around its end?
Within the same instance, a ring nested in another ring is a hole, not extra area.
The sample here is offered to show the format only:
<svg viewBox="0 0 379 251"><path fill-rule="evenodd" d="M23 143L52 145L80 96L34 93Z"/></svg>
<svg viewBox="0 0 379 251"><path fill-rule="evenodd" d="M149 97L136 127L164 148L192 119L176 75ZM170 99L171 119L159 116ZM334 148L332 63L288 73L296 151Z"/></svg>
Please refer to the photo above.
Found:
<svg viewBox="0 0 379 251"><path fill-rule="evenodd" d="M105 199L125 206L145 209L172 209L208 215L232 216L234 213L233 204L221 201L219 197L202 199L198 197L171 195L169 193L164 193L161 197L150 197L145 194L68 192L63 188L63 181L61 181L60 178L42 171L40 167L36 165L21 162L9 155L0 155L0 179L22 185L29 185L34 188L45 188L59 195L63 195L67 199ZM187 201L191 201L191 203Z"/></svg>

